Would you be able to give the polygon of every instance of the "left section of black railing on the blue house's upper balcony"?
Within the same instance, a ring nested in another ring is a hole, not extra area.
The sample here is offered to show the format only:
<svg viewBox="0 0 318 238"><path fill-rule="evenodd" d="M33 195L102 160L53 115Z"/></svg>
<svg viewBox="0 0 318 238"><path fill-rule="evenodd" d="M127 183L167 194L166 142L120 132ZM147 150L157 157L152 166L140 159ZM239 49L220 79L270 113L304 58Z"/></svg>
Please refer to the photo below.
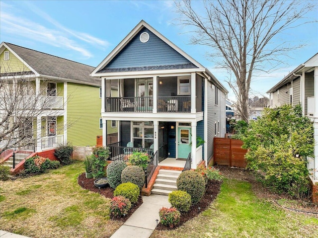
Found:
<svg viewBox="0 0 318 238"><path fill-rule="evenodd" d="M153 97L106 97L106 112L153 112Z"/></svg>

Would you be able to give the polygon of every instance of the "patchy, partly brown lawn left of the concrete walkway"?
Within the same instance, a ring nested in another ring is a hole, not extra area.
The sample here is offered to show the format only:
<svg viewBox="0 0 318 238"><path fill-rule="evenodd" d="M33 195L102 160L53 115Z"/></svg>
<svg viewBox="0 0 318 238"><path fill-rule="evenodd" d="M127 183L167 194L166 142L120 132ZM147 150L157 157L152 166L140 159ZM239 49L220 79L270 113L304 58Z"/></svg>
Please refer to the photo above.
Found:
<svg viewBox="0 0 318 238"><path fill-rule="evenodd" d="M78 185L83 170L82 162L75 162L0 181L0 230L32 238L110 237L122 223L109 219L109 198Z"/></svg>

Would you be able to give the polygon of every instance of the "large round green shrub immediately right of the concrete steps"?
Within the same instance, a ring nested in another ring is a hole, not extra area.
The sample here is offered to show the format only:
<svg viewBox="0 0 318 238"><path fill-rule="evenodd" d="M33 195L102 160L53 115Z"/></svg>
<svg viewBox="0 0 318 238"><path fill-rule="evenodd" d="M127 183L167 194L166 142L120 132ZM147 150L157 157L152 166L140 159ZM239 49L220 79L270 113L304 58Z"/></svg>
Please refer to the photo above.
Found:
<svg viewBox="0 0 318 238"><path fill-rule="evenodd" d="M187 170L177 178L177 188L190 194L192 204L197 204L204 195L205 181L197 172Z"/></svg>

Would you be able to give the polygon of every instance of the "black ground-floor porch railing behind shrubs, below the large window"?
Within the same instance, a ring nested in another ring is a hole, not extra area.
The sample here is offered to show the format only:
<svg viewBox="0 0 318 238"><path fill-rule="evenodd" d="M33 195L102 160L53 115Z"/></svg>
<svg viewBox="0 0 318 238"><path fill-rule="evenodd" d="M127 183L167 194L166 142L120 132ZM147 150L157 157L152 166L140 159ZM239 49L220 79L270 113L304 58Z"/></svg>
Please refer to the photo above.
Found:
<svg viewBox="0 0 318 238"><path fill-rule="evenodd" d="M126 146L120 146L121 142L116 142L107 145L110 152L109 160L115 161L115 160L123 160L128 161L129 155L132 155L134 152L144 152L147 153L150 158L154 155L154 149L149 148L137 148L137 147L126 147Z"/></svg>

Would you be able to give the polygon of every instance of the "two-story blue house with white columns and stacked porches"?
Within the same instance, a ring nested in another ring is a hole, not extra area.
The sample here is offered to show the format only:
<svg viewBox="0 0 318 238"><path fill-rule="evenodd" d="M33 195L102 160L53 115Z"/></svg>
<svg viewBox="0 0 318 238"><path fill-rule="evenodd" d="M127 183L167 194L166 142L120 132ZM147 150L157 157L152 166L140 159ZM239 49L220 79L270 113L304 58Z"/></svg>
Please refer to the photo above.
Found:
<svg viewBox="0 0 318 238"><path fill-rule="evenodd" d="M196 168L213 157L213 138L225 136L227 89L143 20L91 76L102 79L102 123L119 121L119 143L109 145L103 126L103 145L113 159L126 159L127 151L141 148L157 152L159 162L191 153L191 168ZM111 96L113 83L118 97ZM203 147L192 143L197 137L205 141Z"/></svg>

